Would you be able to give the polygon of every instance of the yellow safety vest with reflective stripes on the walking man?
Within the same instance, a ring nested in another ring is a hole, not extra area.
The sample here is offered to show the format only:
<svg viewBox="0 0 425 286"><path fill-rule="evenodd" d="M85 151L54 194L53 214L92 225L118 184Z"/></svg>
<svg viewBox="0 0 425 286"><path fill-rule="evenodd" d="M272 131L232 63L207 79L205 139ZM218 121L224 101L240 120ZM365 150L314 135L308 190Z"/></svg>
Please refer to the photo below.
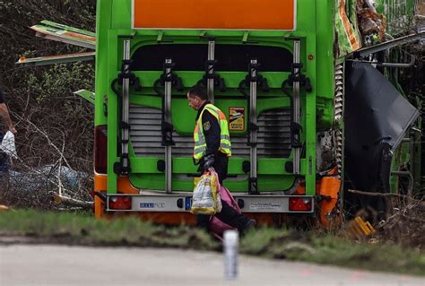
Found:
<svg viewBox="0 0 425 286"><path fill-rule="evenodd" d="M204 136L204 128L202 124L202 116L204 111L208 110L212 116L217 118L217 121L220 125L220 148L219 151L226 154L228 157L231 156L231 144L230 144L230 134L229 134L229 125L226 119L226 116L219 108L216 108L211 103L205 105L201 114L199 115L198 120L196 121L195 131L194 131L194 158L196 161L201 160L204 157L206 152L206 142Z"/></svg>

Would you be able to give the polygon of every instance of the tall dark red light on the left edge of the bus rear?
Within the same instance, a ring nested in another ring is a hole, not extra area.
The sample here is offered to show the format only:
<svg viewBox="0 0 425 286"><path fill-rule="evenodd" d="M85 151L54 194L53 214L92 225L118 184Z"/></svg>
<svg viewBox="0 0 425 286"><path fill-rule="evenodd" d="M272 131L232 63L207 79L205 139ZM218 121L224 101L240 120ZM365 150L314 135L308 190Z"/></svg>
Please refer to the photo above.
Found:
<svg viewBox="0 0 425 286"><path fill-rule="evenodd" d="M107 126L94 127L94 171L100 174L107 173L107 131Z"/></svg>

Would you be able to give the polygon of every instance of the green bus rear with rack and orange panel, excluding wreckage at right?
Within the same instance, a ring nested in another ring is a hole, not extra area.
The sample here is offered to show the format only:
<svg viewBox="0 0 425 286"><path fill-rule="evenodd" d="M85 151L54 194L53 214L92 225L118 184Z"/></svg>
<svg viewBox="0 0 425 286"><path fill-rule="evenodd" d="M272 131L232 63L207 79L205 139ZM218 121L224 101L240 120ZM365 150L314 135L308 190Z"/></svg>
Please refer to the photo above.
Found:
<svg viewBox="0 0 425 286"><path fill-rule="evenodd" d="M99 1L96 216L195 223L196 112L186 100L195 84L229 120L224 186L242 212L267 224L321 202L332 212L341 170L334 158L317 180L316 144L317 126L335 119L333 5Z"/></svg>

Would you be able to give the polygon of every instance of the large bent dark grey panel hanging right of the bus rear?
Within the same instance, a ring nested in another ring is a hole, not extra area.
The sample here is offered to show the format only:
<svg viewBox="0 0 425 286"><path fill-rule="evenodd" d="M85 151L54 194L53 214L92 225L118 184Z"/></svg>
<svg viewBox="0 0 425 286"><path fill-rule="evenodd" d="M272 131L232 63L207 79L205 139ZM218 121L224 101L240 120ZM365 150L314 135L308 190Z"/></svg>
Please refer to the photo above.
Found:
<svg viewBox="0 0 425 286"><path fill-rule="evenodd" d="M347 65L345 174L360 190L389 190L392 152L419 111L372 65Z"/></svg>

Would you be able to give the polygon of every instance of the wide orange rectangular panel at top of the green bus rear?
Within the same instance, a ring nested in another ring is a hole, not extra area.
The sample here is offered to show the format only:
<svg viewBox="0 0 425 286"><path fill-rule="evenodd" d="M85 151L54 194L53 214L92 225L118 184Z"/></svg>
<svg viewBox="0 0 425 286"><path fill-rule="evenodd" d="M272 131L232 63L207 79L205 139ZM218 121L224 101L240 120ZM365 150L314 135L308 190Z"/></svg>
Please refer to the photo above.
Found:
<svg viewBox="0 0 425 286"><path fill-rule="evenodd" d="M294 0L134 0L134 28L294 30Z"/></svg>

